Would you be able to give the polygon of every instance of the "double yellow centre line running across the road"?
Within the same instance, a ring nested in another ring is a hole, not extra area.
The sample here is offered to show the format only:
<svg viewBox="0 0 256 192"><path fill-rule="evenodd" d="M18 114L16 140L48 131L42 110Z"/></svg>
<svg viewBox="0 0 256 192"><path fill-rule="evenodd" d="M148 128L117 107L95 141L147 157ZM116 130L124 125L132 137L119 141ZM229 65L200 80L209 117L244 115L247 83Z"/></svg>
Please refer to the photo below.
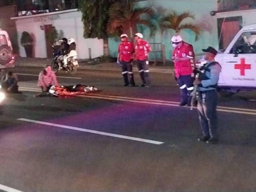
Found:
<svg viewBox="0 0 256 192"><path fill-rule="evenodd" d="M35 88L27 88L27 87L20 87L20 88L21 88L21 90L24 90L24 91L41 92L40 89L35 89ZM133 103L144 103L144 104L179 107L179 102L174 102L174 101L163 101L163 100L143 99L143 98L134 98L134 97L111 96L111 95L101 95L101 94L91 94L91 93L88 93L86 95L76 95L76 96L77 97L96 98L96 99L116 100L116 101L127 101L127 102L133 102ZM190 108L190 107L185 107L185 108ZM254 110L254 109L217 106L217 111L237 113L237 114L245 114L245 115L255 115L256 116L256 110Z"/></svg>

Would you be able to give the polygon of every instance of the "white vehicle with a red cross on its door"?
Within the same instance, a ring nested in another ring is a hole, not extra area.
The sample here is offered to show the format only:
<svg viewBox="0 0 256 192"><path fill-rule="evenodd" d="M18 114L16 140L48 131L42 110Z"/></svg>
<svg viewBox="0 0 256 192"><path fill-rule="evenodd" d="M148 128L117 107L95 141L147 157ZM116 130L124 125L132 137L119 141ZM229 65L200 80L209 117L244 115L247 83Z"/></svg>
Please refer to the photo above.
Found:
<svg viewBox="0 0 256 192"><path fill-rule="evenodd" d="M256 24L244 26L215 59L222 67L218 82L222 95L256 89Z"/></svg>

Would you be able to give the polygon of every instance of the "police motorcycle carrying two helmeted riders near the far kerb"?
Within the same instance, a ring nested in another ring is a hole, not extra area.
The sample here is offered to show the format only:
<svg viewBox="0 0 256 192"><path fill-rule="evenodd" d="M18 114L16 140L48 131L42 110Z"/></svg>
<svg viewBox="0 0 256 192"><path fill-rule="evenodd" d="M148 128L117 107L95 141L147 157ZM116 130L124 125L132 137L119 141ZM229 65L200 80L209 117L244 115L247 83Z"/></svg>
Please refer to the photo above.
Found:
<svg viewBox="0 0 256 192"><path fill-rule="evenodd" d="M60 57L62 54L61 51L53 51L54 59L51 63L52 70L54 73L57 73L59 71L59 64L58 64L58 57ZM65 58L66 55L64 55L64 60L66 59L67 65L64 65L64 62L61 63L62 69L66 72L69 72L70 74L76 74L77 68L79 67L77 56Z"/></svg>

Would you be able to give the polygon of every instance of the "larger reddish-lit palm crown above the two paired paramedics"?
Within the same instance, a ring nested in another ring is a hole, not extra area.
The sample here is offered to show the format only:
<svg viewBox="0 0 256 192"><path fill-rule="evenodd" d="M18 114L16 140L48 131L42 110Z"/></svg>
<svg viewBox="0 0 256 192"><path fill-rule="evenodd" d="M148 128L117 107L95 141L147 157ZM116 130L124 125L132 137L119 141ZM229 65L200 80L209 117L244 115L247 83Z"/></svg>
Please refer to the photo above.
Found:
<svg viewBox="0 0 256 192"><path fill-rule="evenodd" d="M112 35L128 33L132 37L136 25L144 24L150 28L151 35L153 35L157 26L149 18L151 12L150 8L135 7L134 0L116 2L109 9L107 32ZM142 18L142 15L147 16L147 18Z"/></svg>

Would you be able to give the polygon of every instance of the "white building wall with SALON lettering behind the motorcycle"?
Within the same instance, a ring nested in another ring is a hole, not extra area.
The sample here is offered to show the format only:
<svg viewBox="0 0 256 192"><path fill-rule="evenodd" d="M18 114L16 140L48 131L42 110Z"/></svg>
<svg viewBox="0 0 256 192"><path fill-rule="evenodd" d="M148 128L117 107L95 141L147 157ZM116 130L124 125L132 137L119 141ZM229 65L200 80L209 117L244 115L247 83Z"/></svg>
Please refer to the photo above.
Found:
<svg viewBox="0 0 256 192"><path fill-rule="evenodd" d="M68 10L55 13L40 14L34 16L24 16L11 18L15 19L18 31L19 51L21 57L26 57L24 47L20 44L23 31L29 32L35 39L34 56L36 58L46 58L45 32L40 26L52 24L59 33L59 39L74 38L77 43L77 54L79 59L88 59L88 49L91 48L92 58L103 55L103 39L84 39L83 23L81 22L81 12Z"/></svg>

